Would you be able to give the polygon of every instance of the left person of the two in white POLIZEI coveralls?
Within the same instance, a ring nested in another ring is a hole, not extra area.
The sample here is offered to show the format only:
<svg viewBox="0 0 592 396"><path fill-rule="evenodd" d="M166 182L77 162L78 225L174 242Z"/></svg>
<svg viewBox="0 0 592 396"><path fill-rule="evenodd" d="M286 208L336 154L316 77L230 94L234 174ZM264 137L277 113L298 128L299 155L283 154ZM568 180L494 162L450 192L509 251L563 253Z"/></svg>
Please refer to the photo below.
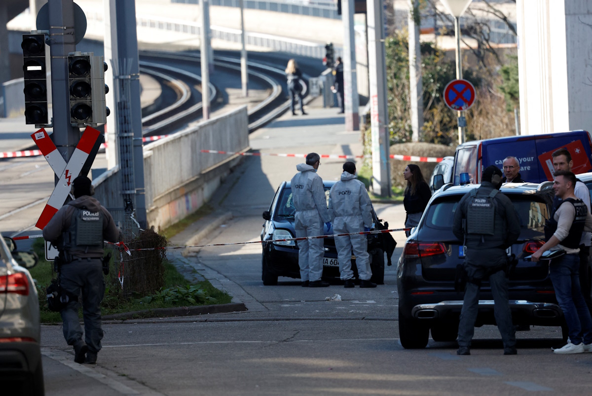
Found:
<svg viewBox="0 0 592 396"><path fill-rule="evenodd" d="M306 156L305 164L298 164L298 173L292 177L292 200L296 238L324 235L323 223L327 231L331 228L323 179L317 175L321 157L316 152ZM321 280L323 275L323 239L304 239L298 242L298 265L303 287L327 287L329 283Z"/></svg>

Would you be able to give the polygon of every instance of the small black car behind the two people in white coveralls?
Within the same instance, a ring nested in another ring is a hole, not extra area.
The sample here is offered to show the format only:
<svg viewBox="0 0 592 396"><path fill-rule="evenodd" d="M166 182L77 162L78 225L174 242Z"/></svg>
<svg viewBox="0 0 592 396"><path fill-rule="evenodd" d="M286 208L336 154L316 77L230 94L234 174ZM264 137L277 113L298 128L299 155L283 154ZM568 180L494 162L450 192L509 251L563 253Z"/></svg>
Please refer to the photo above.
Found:
<svg viewBox="0 0 592 396"><path fill-rule="evenodd" d="M327 200L329 190L336 181L323 180L323 187ZM292 203L292 190L289 181L282 181L275 192L274 200L269 210L263 212L263 229L261 240L295 238L294 214L296 209ZM382 224L374 209L372 209L374 229L388 229L388 223ZM332 231L332 230L331 230ZM329 235L325 233L325 235ZM339 261L333 238L324 238L323 278L339 278ZM387 253L388 265L391 265L391 255L395 249L395 241L389 233L368 235L368 253L370 254L371 280L377 284L384 284L384 253ZM263 244L261 263L261 278L264 285L278 284L278 277L300 278L298 267L298 245L295 241L269 242ZM355 277L358 271L355 258L352 257L352 270Z"/></svg>

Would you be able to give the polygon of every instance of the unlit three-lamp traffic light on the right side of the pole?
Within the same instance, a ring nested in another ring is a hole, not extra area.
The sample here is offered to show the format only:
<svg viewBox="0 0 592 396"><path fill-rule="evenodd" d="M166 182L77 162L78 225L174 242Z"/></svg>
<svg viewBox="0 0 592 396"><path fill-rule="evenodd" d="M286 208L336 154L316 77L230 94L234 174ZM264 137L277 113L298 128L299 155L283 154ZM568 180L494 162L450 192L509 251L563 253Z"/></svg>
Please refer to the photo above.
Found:
<svg viewBox="0 0 592 396"><path fill-rule="evenodd" d="M102 56L75 52L68 56L70 92L70 124L84 126L107 122L109 109L105 105L105 70Z"/></svg>

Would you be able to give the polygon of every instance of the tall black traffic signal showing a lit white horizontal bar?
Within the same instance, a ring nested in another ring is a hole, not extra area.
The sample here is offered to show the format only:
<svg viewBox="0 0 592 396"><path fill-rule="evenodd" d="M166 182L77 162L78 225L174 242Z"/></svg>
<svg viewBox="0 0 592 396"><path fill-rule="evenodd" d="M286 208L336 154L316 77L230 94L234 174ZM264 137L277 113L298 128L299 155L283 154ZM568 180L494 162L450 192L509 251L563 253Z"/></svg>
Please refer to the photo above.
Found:
<svg viewBox="0 0 592 396"><path fill-rule="evenodd" d="M45 35L22 35L22 71L25 79L25 124L47 124Z"/></svg>

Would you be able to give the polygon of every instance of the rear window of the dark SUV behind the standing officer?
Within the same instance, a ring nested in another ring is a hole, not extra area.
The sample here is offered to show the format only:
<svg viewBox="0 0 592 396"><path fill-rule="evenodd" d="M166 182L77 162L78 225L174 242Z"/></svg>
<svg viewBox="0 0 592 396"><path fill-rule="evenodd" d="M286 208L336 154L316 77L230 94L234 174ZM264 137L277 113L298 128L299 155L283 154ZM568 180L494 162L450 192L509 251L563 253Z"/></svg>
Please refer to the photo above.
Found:
<svg viewBox="0 0 592 396"><path fill-rule="evenodd" d="M535 195L508 194L507 197L520 219L520 239L542 238L545 234L543 227L549 217L546 204L536 200L538 197ZM462 195L446 196L433 202L428 208L423 226L452 232L454 213L461 198Z"/></svg>

